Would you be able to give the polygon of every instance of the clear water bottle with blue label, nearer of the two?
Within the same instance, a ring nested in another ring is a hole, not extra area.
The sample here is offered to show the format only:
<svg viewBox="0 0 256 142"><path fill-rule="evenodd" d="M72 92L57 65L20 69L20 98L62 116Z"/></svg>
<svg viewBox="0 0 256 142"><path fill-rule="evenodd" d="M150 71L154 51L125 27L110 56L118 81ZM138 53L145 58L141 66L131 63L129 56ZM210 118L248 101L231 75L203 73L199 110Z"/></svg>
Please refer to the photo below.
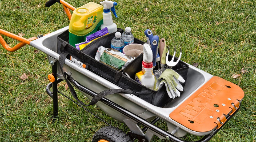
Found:
<svg viewBox="0 0 256 142"><path fill-rule="evenodd" d="M121 33L120 32L116 32L115 33L115 37L111 40L111 48L116 49L120 52L123 52L123 47L124 46L124 41L121 37Z"/></svg>

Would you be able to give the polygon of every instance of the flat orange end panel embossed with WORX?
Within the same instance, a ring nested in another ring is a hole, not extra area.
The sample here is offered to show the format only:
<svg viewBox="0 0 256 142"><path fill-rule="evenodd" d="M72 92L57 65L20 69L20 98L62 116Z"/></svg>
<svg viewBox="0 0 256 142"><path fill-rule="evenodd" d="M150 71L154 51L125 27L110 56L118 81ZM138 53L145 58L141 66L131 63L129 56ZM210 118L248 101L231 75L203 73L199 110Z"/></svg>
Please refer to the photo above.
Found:
<svg viewBox="0 0 256 142"><path fill-rule="evenodd" d="M170 113L170 118L196 132L208 132L222 126L225 115L233 114L244 97L243 90L214 76Z"/></svg>

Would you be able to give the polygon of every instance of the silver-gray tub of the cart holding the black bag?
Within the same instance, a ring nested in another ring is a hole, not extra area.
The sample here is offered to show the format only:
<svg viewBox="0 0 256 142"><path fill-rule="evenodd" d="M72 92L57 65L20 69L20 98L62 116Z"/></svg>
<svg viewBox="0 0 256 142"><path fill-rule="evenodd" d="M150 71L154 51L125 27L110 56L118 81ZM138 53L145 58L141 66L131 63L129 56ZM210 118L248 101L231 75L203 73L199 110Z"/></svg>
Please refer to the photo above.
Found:
<svg viewBox="0 0 256 142"><path fill-rule="evenodd" d="M66 31L67 29L68 27L65 27L41 38L38 38L37 40L31 41L30 45L44 52L47 55L49 61L58 61L59 54L57 53L57 36L62 32ZM101 78L100 76L86 70L85 68L81 68L80 66L68 59L65 59L63 70L68 72L80 84L93 90L96 93L99 93L106 89L122 89L117 85L107 81L106 79ZM60 70L58 70L57 75L58 78L63 79ZM169 117L169 114L173 112L178 106L180 106L184 101L186 101L194 92L196 92L211 78L213 78L213 75L189 65L184 92L181 94L180 97L175 98L175 100L171 101L171 103L165 105L164 107L156 107L154 105L151 105L150 103L136 97L133 94L113 94L106 96L106 98L148 121L154 119L155 117L162 119L167 123L168 132L172 132L174 136L182 137L185 136L187 133L197 136L204 136L212 133L217 125L215 128L209 131L193 131L171 119ZM86 93L84 93L84 95L89 99L92 98ZM241 101L242 100L239 100L239 102ZM166 137L162 137L150 129L148 129L146 133L142 132L137 122L133 121L126 115L117 112L116 110L112 109L111 107L105 105L100 101L96 105L109 116L117 119L118 121L124 122L132 132L143 135L147 137L148 140L151 140L153 135L157 135L160 139L166 139Z"/></svg>

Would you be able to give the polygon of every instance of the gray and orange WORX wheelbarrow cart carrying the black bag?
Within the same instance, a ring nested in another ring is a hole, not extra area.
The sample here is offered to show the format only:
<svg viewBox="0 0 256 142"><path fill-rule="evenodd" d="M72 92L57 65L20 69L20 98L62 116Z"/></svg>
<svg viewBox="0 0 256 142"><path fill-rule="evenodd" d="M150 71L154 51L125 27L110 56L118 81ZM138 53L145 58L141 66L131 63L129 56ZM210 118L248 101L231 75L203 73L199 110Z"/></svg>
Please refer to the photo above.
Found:
<svg viewBox="0 0 256 142"><path fill-rule="evenodd" d="M51 0L46 5L51 6L55 2ZM75 10L75 8L63 0L58 2L63 5L70 19L69 9ZM86 107L59 92L57 88L57 84L64 79L59 70L60 54L58 54L57 36L66 30L68 26L44 36L26 39L0 29L0 43L6 50L16 51L29 44L47 55L52 73L48 76L51 83L47 85L46 92L53 99L54 118L58 116L58 94L87 110ZM1 35L21 42L11 48ZM67 80L90 100L106 89L122 89L69 59L65 59L63 70ZM109 116L125 123L131 130L128 132L131 139L147 142L156 135L160 139L181 142L185 140L179 137L190 133L203 136L198 140L203 142L209 141L234 116L239 110L243 96L242 89L237 85L189 65L184 92L163 107L154 106L133 94L109 95L101 98L96 105ZM166 122L167 130L155 125L159 120ZM141 128L139 124L144 127Z"/></svg>

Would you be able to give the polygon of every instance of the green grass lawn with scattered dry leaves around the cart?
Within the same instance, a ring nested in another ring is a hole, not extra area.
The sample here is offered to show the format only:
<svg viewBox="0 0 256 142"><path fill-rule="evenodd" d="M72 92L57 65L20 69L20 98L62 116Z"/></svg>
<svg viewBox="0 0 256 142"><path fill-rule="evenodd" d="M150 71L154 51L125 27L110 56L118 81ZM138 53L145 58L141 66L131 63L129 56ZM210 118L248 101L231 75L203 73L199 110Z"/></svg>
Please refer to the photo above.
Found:
<svg viewBox="0 0 256 142"><path fill-rule="evenodd" d="M25 38L51 33L69 25L62 5L45 7L45 0L0 0L0 28ZM90 1L71 1L79 7ZM99 1L94 1L99 3ZM256 140L256 2L253 0L117 1L118 28L131 27L146 41L145 29L182 47L182 61L239 85L245 92L241 109L211 139L214 142ZM147 10L145 10L147 9ZM18 42L3 36L8 44ZM105 123L94 119L59 95L55 123L52 100L45 92L51 67L46 55L26 45L9 52L0 45L0 141L90 141ZM247 70L241 72L241 69ZM28 79L22 80L22 74ZM233 78L232 75L240 75ZM65 94L65 82L59 84ZM113 126L128 128L96 106L89 110ZM187 140L197 137L188 136ZM154 138L153 141L165 141Z"/></svg>

